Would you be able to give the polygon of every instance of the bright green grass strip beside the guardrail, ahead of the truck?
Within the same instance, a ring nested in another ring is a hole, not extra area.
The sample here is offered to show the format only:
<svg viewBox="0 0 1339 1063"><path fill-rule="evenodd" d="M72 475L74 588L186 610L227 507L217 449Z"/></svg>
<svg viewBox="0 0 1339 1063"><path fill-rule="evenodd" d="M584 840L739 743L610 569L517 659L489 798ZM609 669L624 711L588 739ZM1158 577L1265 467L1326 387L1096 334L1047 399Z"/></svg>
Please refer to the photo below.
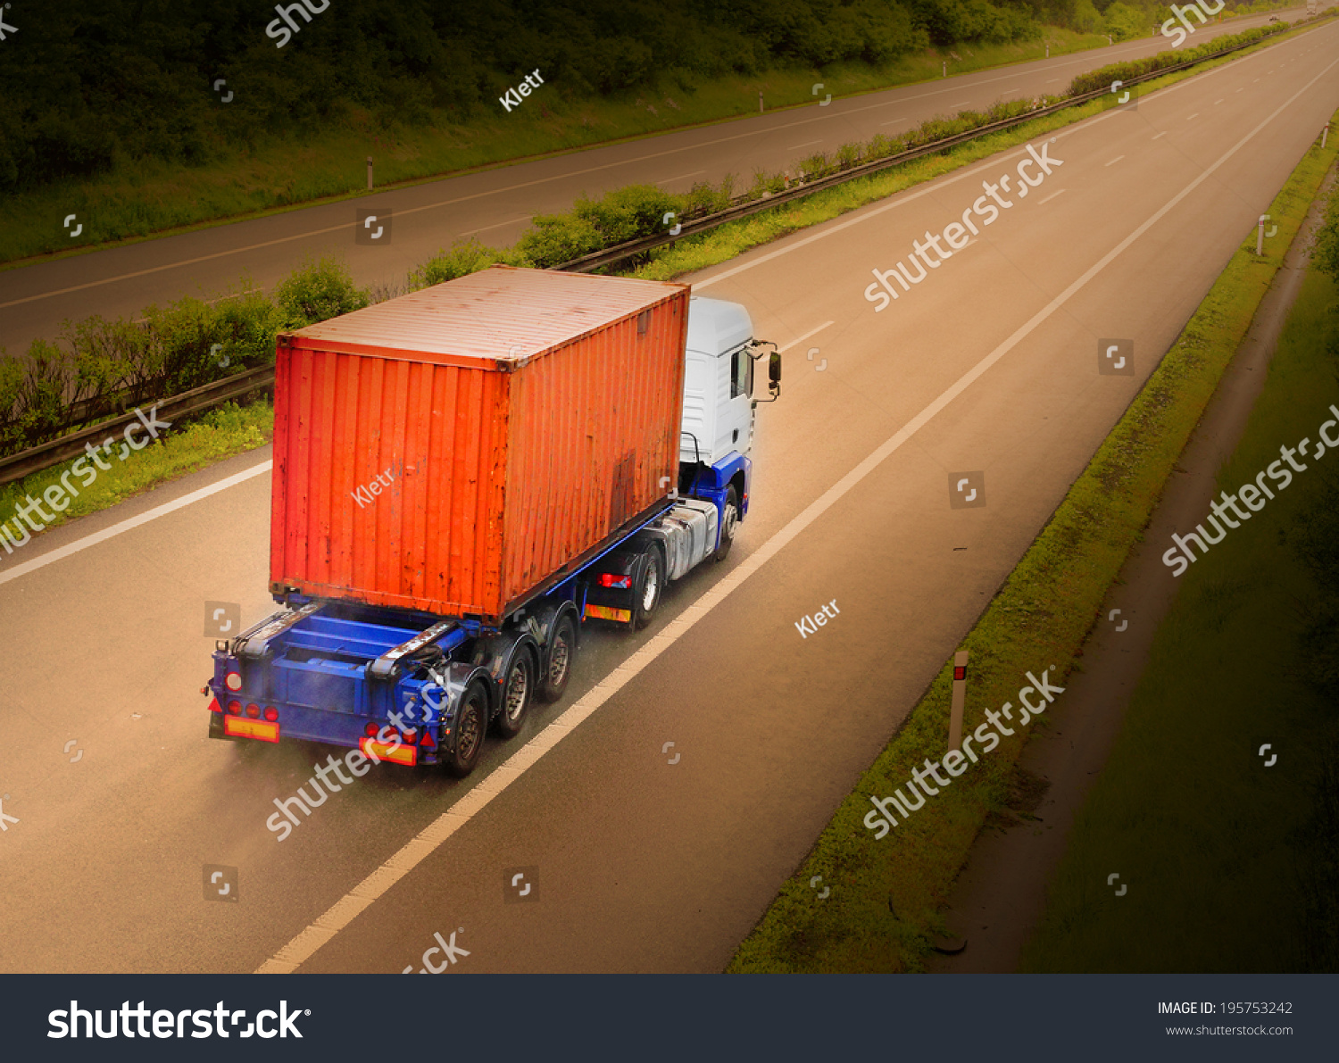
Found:
<svg viewBox="0 0 1339 1063"><path fill-rule="evenodd" d="M1280 40L1287 40L1293 33L1304 32L1293 29L1267 37L1253 48L1244 48L1221 59L1201 63L1190 70L1168 74L1138 86L1139 96L1166 88L1177 82L1202 74L1223 63L1231 63L1241 56L1251 55L1256 48L1269 47ZM632 270L631 276L645 277L647 280L674 280L687 273L695 273L708 266L719 265L743 254L746 250L779 240L783 236L819 225L832 218L840 217L850 210L858 210L877 199L886 199L898 191L905 191L913 185L933 181L936 177L971 166L973 162L990 158L1010 147L1027 143L1052 130L1082 122L1105 110L1102 100L1093 100L1079 107L1069 107L1032 122L1024 122L1014 129L979 141L971 141L960 147L948 151L927 155L902 166L894 166L870 177L857 178L838 185L826 191L817 191L802 199L785 203L771 210L762 210L738 222L728 222L699 237L679 240L664 249L651 253L651 258L644 265Z"/></svg>

